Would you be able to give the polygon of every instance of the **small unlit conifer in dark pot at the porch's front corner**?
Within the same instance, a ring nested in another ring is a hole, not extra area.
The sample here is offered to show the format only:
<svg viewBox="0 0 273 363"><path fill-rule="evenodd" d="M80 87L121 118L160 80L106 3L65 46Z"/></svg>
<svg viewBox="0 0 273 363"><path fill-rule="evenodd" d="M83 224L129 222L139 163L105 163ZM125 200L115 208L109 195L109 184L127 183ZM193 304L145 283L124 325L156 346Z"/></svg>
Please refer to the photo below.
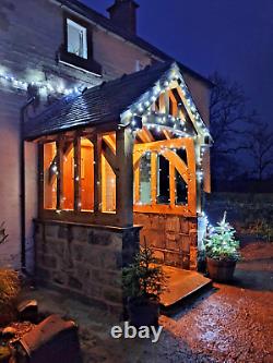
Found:
<svg viewBox="0 0 273 363"><path fill-rule="evenodd" d="M146 243L133 263L123 267L122 282L130 324L136 328L158 326L159 297L165 290L166 278Z"/></svg>

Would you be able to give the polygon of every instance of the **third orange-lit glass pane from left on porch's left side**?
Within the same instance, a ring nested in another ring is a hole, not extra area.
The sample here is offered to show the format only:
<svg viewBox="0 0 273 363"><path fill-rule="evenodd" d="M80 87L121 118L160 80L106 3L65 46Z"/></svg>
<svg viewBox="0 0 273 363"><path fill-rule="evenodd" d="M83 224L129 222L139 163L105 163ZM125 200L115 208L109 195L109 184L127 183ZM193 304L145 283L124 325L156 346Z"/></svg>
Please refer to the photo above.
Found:
<svg viewBox="0 0 273 363"><path fill-rule="evenodd" d="M94 145L81 138L81 209L94 210Z"/></svg>

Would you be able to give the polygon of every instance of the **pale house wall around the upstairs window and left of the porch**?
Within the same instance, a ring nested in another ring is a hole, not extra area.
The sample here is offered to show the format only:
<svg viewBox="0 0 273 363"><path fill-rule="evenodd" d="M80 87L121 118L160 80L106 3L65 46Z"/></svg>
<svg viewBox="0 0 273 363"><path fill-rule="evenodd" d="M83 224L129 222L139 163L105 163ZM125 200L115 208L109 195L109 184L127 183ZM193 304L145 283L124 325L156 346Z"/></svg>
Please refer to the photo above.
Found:
<svg viewBox="0 0 273 363"><path fill-rule="evenodd" d="M135 60L149 63L145 52L94 29L94 57L103 65L103 77L58 63L57 52L63 43L62 9L49 0L1 0L0 4L0 73L5 72L26 82L50 81L67 87L84 84L88 87L135 70ZM16 90L0 80L0 222L4 221L9 243L0 249L0 265L20 266L20 108L25 92ZM41 106L47 102L41 99ZM31 114L40 112L41 107ZM36 217L36 146L26 150L26 247L33 249L32 219ZM33 257L28 253L28 264Z"/></svg>

